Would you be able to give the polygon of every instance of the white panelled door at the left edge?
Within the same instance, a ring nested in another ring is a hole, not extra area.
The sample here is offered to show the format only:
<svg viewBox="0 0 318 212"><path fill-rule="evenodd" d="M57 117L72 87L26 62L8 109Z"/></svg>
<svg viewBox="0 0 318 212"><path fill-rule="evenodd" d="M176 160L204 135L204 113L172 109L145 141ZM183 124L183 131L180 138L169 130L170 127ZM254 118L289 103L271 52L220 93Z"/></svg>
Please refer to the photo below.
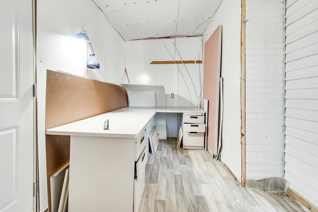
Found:
<svg viewBox="0 0 318 212"><path fill-rule="evenodd" d="M32 0L1 0L0 29L0 212L32 212Z"/></svg>

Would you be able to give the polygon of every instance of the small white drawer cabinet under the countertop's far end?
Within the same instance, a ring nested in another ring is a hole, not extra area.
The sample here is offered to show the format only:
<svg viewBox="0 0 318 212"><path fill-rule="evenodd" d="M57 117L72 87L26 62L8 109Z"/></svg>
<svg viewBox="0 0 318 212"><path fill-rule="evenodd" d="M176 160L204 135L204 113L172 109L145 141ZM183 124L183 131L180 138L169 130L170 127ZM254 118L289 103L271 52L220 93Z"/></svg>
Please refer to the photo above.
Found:
<svg viewBox="0 0 318 212"><path fill-rule="evenodd" d="M182 145L185 149L204 149L204 113L183 113Z"/></svg>

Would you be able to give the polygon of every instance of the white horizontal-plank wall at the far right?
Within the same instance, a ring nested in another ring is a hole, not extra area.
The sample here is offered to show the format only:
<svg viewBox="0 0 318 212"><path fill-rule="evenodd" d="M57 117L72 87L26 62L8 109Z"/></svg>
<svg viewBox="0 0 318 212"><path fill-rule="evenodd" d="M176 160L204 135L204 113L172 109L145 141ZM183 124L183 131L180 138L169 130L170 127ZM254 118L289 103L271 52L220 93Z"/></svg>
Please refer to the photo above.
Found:
<svg viewBox="0 0 318 212"><path fill-rule="evenodd" d="M318 1L286 1L285 179L318 208Z"/></svg>

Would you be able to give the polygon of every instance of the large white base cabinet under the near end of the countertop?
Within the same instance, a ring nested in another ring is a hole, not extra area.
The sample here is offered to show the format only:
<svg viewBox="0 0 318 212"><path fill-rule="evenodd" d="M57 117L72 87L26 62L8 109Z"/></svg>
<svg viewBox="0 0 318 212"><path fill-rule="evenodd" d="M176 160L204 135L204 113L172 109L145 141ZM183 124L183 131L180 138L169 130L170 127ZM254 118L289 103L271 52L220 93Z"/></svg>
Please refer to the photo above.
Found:
<svg viewBox="0 0 318 212"><path fill-rule="evenodd" d="M133 140L71 136L70 212L138 211L148 154L136 163Z"/></svg>

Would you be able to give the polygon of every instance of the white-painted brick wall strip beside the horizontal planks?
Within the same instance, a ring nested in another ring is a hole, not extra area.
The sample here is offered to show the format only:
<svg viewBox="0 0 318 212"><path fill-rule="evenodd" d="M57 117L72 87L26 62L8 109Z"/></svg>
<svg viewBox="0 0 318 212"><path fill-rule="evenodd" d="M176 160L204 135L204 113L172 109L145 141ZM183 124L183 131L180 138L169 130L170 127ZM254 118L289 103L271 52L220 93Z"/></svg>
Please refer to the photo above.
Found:
<svg viewBox="0 0 318 212"><path fill-rule="evenodd" d="M246 179L283 177L284 0L246 0Z"/></svg>

